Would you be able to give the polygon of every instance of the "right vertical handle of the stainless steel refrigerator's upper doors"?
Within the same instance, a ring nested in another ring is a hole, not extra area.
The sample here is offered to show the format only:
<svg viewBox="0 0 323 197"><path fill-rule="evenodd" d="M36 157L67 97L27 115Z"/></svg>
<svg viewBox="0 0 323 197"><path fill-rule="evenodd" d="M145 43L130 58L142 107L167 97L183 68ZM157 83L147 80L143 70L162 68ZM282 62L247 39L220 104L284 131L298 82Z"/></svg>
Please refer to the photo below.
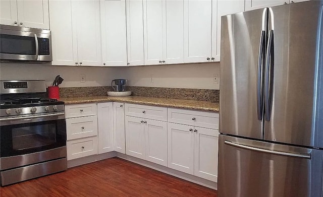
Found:
<svg viewBox="0 0 323 197"><path fill-rule="evenodd" d="M274 76L274 30L269 30L267 53L265 59L265 82L264 82L264 111L265 120L271 120L271 105L273 96Z"/></svg>

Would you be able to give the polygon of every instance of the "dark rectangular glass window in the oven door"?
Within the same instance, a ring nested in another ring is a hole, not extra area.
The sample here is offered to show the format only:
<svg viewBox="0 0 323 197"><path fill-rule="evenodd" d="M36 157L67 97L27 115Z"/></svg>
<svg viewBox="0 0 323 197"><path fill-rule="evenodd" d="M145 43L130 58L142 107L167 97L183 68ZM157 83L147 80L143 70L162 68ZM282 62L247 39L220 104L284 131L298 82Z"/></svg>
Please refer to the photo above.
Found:
<svg viewBox="0 0 323 197"><path fill-rule="evenodd" d="M28 125L12 129L13 150L24 150L55 144L56 125Z"/></svg>

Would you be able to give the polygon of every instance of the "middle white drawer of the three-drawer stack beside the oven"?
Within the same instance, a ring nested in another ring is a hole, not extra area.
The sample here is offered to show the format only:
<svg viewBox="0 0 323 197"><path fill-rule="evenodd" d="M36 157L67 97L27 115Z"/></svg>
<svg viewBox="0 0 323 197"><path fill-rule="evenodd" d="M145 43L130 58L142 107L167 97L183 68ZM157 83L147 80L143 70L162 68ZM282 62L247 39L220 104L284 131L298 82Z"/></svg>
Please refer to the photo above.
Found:
<svg viewBox="0 0 323 197"><path fill-rule="evenodd" d="M86 116L66 119L67 140L97 136L97 117Z"/></svg>

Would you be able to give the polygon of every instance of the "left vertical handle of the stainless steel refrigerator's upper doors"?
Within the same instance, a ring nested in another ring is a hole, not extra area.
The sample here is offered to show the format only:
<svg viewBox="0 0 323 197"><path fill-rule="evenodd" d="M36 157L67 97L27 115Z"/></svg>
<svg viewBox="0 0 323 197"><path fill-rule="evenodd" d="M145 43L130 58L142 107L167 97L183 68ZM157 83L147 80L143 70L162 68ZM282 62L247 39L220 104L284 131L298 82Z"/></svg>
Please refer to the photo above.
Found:
<svg viewBox="0 0 323 197"><path fill-rule="evenodd" d="M265 31L260 33L259 51L258 51L258 72L257 72L257 116L262 120L263 113L263 57L265 53Z"/></svg>

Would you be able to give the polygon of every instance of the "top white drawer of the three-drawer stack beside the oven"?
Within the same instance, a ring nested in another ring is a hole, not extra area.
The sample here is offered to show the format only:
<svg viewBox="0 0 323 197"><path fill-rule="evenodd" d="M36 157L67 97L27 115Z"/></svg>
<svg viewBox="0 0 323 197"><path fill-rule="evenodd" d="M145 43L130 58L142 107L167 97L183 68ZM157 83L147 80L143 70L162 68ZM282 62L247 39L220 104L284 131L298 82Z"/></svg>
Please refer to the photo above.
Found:
<svg viewBox="0 0 323 197"><path fill-rule="evenodd" d="M65 105L65 117L81 117L88 115L96 115L96 104L77 104L77 105Z"/></svg>

